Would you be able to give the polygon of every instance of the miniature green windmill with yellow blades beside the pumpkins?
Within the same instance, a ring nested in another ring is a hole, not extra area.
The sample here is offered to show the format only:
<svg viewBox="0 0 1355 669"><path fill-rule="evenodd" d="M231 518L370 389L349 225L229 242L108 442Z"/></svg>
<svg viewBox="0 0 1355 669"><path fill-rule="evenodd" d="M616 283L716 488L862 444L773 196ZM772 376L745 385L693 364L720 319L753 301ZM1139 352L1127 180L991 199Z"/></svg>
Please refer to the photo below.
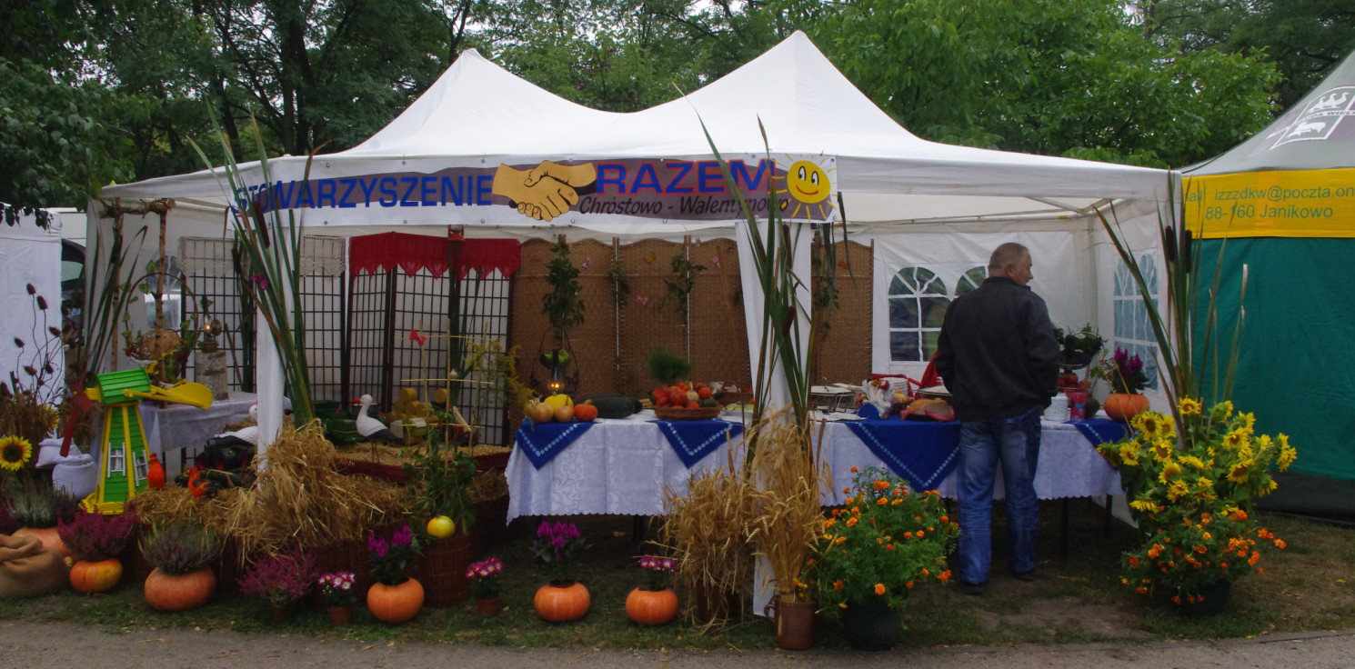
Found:
<svg viewBox="0 0 1355 669"><path fill-rule="evenodd" d="M145 400L186 404L199 409L211 406L211 390L202 383L179 383L173 387L150 385L150 367L99 374L85 395L103 404L103 436L99 441L99 488L85 498L84 506L100 513L122 513L122 508L146 489L149 458L146 431L137 404ZM130 465L130 467L129 467Z"/></svg>

